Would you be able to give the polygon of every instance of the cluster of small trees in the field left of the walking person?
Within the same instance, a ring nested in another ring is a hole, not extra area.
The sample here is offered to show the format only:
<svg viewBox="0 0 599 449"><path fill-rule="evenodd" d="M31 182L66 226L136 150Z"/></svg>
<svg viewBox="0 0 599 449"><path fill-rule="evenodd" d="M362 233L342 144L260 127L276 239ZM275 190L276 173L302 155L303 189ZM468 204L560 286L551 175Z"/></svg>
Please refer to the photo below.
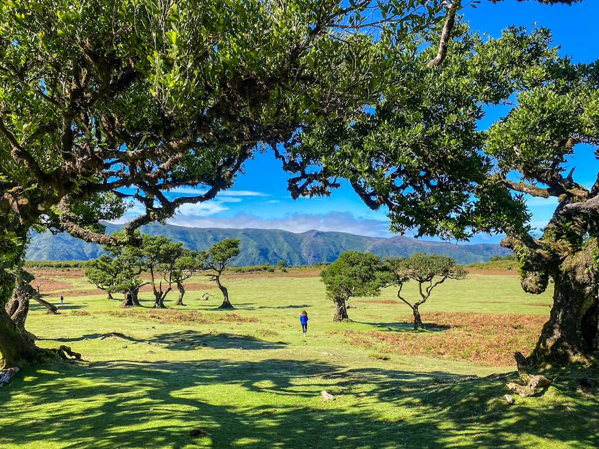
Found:
<svg viewBox="0 0 599 449"><path fill-rule="evenodd" d="M108 254L86 263L87 279L105 290L108 299L113 299L114 293L122 293L125 295L123 307L140 305L138 292L149 284L155 298L154 308L164 308L164 299L175 285L179 290L176 305L184 305L184 281L202 272L215 281L223 293L220 308L232 308L220 276L239 254L238 239L226 238L207 251L189 250L181 242L162 235L143 234L140 239L140 245L105 245Z"/></svg>

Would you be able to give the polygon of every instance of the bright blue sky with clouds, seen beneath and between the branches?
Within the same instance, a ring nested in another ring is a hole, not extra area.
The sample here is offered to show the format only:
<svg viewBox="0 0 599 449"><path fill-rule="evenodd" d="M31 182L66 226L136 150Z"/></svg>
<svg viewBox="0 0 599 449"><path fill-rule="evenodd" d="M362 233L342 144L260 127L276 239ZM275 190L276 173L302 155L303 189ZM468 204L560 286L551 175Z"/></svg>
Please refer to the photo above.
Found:
<svg viewBox="0 0 599 449"><path fill-rule="evenodd" d="M465 18L473 30L499 37L509 25L534 22L553 32L561 54L568 54L574 62L592 62L599 57L593 48L597 38L599 2L587 0L571 7L546 6L538 2L506 0L498 4L482 0L477 8L466 8ZM597 177L599 162L590 147L577 148L568 165L576 165L574 179L590 187ZM235 186L220 193L204 204L186 205L169 223L192 227L254 227L304 232L310 229L349 232L357 235L386 237L389 223L385 211L371 211L347 185L329 198L298 199L294 201L286 191L286 174L270 153L258 154L246 164L246 174L238 177ZM553 199L531 198L528 202L533 213L533 225L542 227L555 208ZM471 242L498 243L501 236L477 235Z"/></svg>

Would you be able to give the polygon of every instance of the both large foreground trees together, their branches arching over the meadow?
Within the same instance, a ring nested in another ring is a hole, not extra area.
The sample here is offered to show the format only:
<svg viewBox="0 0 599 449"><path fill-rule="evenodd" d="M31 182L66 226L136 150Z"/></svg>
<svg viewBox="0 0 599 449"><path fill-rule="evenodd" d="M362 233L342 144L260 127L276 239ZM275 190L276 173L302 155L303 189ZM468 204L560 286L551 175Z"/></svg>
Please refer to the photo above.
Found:
<svg viewBox="0 0 599 449"><path fill-rule="evenodd" d="M0 366L48 354L4 307L26 304L16 287L32 227L126 244L138 226L231 187L265 146L294 198L345 178L369 207L388 208L395 231L506 233L525 290L555 281L537 362L596 350L599 179L588 189L563 172L577 146L599 142L597 68L560 57L540 28L483 41L456 20L461 7L4 2ZM477 129L499 104L510 113ZM183 186L199 189L168 193ZM524 193L558 199L541 236ZM116 240L104 235L99 221L129 201L141 216Z"/></svg>

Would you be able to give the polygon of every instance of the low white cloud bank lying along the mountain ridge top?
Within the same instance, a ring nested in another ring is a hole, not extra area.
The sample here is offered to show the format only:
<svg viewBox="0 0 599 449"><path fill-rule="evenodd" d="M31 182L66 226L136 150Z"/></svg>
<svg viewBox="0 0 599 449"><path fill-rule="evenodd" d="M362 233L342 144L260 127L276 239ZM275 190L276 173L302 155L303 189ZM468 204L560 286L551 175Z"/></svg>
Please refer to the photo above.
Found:
<svg viewBox="0 0 599 449"><path fill-rule="evenodd" d="M348 232L355 235L388 237L389 223L383 220L354 217L349 212L327 214L291 214L282 218L263 219L252 214L238 213L233 217L189 217L183 214L168 223L187 227L232 227L235 229L282 229L301 233L311 229Z"/></svg>

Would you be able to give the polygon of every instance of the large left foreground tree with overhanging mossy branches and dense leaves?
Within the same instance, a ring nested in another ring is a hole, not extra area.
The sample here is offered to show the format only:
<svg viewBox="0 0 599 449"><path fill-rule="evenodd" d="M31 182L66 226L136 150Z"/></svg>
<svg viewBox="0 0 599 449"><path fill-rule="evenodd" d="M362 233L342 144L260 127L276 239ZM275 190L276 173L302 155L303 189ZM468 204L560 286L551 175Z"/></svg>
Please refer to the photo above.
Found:
<svg viewBox="0 0 599 449"><path fill-rule="evenodd" d="M214 198L255 151L378 95L382 36L426 29L443 10L441 0L4 2L0 304L31 226L107 244L98 220L129 202L141 206L130 240ZM197 192L173 195L182 186ZM0 353L1 365L39 353L2 310Z"/></svg>

